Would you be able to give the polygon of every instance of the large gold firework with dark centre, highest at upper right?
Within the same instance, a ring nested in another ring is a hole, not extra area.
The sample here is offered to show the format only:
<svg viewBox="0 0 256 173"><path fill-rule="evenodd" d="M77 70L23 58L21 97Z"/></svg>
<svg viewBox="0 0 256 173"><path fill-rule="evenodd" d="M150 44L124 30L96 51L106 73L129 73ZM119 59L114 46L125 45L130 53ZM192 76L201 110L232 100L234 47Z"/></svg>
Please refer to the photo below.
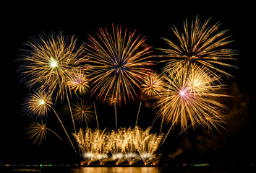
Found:
<svg viewBox="0 0 256 173"><path fill-rule="evenodd" d="M210 19L201 24L200 19L196 18L191 27L188 26L187 20L184 22L182 33L172 27L179 41L174 43L163 39L170 46L168 49L160 49L166 53L163 57L168 58L163 61L166 62L163 71L179 71L180 68L189 68L194 64L229 75L218 67L232 67L227 61L234 60L232 56L236 55L236 51L226 48L231 43L229 36L225 36L228 30L218 31L219 25L221 24L217 22L216 25L210 26Z"/></svg>

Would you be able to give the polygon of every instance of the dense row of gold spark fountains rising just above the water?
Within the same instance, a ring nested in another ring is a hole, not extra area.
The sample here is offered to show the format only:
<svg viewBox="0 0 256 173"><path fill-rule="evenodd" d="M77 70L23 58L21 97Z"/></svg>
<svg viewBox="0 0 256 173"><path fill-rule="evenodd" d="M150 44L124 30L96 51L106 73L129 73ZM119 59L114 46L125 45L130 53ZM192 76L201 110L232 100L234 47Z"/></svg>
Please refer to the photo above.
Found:
<svg viewBox="0 0 256 173"><path fill-rule="evenodd" d="M83 132L74 134L79 143L82 164L98 161L101 165L114 161L119 164L134 164L142 161L145 165L155 164L158 156L155 151L161 145L163 135L150 133L150 128L142 130L139 127L119 128L108 132L106 130L92 130L86 128Z"/></svg>

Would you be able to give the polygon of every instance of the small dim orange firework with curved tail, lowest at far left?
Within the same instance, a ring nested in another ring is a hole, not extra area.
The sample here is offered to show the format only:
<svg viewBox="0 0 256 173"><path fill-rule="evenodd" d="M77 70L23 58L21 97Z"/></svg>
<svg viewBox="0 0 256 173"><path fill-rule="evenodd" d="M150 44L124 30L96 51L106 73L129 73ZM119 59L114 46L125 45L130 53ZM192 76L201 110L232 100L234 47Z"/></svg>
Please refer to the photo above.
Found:
<svg viewBox="0 0 256 173"><path fill-rule="evenodd" d="M33 144L38 142L38 144L40 145L43 140L46 140L46 134L47 134L46 130L49 130L52 133L54 133L62 141L62 139L53 130L46 128L46 123L42 122L40 124L38 122L33 122L26 129L27 129L28 138L30 140L35 138L33 141Z"/></svg>

